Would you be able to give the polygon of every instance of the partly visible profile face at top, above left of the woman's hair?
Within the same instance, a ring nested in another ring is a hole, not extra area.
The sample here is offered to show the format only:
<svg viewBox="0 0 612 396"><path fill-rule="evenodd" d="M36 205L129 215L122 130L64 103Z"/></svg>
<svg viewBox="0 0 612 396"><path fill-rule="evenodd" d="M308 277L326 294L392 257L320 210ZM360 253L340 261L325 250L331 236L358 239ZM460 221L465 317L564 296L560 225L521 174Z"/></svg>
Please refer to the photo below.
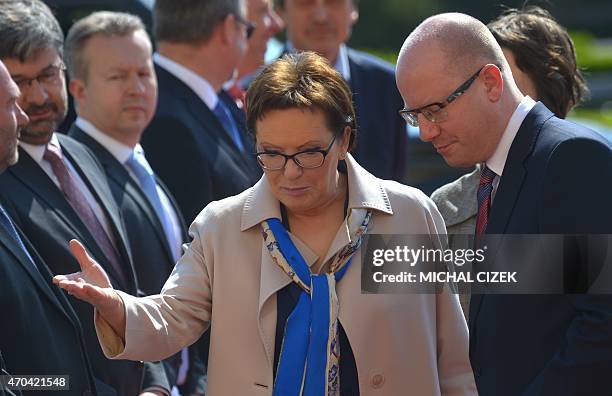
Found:
<svg viewBox="0 0 612 396"><path fill-rule="evenodd" d="M283 26L280 17L271 7L270 0L247 0L247 20L255 23L249 39L249 47L240 64L239 76L245 76L264 64L268 40Z"/></svg>

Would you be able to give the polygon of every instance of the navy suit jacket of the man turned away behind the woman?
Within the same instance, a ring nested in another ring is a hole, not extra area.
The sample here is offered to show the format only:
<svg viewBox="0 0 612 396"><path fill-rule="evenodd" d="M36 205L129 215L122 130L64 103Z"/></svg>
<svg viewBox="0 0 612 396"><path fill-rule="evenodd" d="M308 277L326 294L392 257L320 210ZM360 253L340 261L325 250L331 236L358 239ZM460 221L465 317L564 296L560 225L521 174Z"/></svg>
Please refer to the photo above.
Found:
<svg viewBox="0 0 612 396"><path fill-rule="evenodd" d="M209 202L242 192L261 173L191 88L159 66L155 72L159 100L141 144L191 224Z"/></svg>

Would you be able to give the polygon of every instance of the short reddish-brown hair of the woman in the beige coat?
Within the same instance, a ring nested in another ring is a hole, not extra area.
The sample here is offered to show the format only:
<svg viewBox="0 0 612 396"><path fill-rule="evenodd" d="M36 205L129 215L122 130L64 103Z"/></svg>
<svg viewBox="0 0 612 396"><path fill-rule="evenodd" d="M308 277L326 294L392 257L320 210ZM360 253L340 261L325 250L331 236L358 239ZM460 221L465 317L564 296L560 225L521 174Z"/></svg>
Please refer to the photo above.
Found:
<svg viewBox="0 0 612 396"><path fill-rule="evenodd" d="M270 111L285 109L322 111L336 136L342 136L345 127L351 128L349 150L355 146L357 124L351 90L340 73L314 52L286 54L251 83L246 94L249 131L256 136L257 121Z"/></svg>

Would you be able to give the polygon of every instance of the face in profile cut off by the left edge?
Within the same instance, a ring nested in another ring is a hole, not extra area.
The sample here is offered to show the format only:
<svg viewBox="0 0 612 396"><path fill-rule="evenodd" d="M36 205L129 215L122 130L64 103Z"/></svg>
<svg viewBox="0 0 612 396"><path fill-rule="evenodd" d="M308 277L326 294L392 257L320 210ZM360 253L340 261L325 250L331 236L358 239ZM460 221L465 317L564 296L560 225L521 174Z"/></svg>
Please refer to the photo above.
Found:
<svg viewBox="0 0 612 396"><path fill-rule="evenodd" d="M28 123L18 104L19 95L19 88L0 64L0 172L17 163L19 131Z"/></svg>

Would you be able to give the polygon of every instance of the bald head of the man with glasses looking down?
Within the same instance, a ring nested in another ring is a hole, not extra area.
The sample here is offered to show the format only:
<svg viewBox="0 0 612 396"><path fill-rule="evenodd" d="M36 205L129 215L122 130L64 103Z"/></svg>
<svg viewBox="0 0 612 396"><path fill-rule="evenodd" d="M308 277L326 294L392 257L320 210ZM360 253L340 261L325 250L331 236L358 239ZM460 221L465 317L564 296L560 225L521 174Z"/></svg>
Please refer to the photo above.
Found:
<svg viewBox="0 0 612 396"><path fill-rule="evenodd" d="M435 15L410 33L396 80L403 114L451 166L486 161L522 99L493 35L464 14Z"/></svg>

